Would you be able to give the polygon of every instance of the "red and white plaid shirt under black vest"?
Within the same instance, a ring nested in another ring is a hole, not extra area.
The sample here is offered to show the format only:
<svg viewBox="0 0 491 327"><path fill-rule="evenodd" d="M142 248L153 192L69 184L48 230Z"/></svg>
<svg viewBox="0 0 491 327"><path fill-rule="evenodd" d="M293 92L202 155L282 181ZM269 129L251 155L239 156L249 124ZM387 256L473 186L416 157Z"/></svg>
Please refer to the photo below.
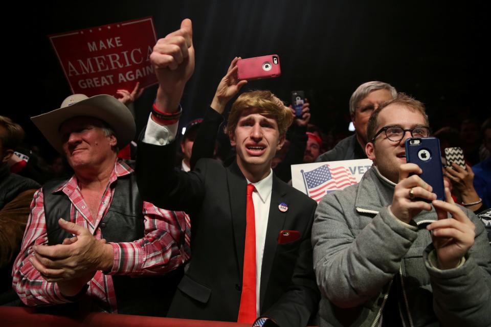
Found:
<svg viewBox="0 0 491 327"><path fill-rule="evenodd" d="M98 228L107 213L119 176L130 174L133 170L121 160L115 163L109 183L99 204L97 217L93 217L85 203L77 177L74 175L54 192L62 191L72 202L70 221L90 230L94 237L101 239ZM190 222L184 212L167 211L143 202L145 236L133 242L109 243L113 246L113 268L107 274L97 271L88 283L86 294L102 302L101 310L115 312L116 294L112 274L156 275L177 268L191 256ZM184 243L180 242L183 239ZM41 277L29 262L32 247L48 244L46 220L44 218L42 189L34 194L31 214L28 219L20 252L13 266L12 285L20 299L28 306L49 305L71 302L65 298L56 283L49 283ZM138 300L138 299L136 299Z"/></svg>

